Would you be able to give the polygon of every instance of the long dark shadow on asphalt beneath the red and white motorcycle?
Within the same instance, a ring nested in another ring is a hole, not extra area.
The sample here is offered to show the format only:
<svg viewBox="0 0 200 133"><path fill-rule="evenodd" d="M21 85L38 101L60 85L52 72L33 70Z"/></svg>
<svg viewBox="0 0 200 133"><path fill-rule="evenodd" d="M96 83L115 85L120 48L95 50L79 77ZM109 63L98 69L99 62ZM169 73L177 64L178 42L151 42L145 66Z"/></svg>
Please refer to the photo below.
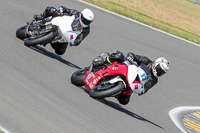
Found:
<svg viewBox="0 0 200 133"><path fill-rule="evenodd" d="M84 87L79 87L79 88L81 88L84 92L89 94L89 91L86 90ZM123 112L123 113L125 113L125 114L127 114L127 115L129 115L129 116L131 116L131 117L133 117L135 119L138 119L138 120L141 120L141 121L144 121L144 122L148 122L148 123L150 123L150 124L152 124L152 125L154 125L154 126L156 126L158 128L164 129L163 127L159 126L158 124L156 124L156 123L154 123L154 122L152 122L150 120L147 120L144 117L142 117L140 115L137 115L137 114L135 114L135 113L123 108L120 104L117 104L115 102L109 101L109 100L107 100L105 98L104 99L95 99L95 100L97 100L98 102L103 103L103 104L105 104L105 105L107 105L107 106L109 106L109 107L111 107L113 109L116 109L116 110L118 110L120 112Z"/></svg>

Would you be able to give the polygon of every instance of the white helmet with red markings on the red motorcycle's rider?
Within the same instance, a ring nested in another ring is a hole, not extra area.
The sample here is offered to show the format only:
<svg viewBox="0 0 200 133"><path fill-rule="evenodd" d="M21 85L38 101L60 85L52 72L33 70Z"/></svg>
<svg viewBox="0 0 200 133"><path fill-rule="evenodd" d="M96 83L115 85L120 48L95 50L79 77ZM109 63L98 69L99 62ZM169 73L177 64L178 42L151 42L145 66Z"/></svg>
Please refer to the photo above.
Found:
<svg viewBox="0 0 200 133"><path fill-rule="evenodd" d="M156 59L152 64L152 71L155 77L160 77L169 70L169 62L164 58Z"/></svg>

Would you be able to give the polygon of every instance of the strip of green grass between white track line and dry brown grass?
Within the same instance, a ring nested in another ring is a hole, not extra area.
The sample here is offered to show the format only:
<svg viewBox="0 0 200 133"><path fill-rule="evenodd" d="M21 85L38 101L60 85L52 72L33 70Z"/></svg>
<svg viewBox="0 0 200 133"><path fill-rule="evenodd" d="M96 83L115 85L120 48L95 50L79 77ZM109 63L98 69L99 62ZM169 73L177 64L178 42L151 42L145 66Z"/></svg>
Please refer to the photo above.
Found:
<svg viewBox="0 0 200 133"><path fill-rule="evenodd" d="M157 28L159 30L165 31L167 33L173 34L175 36L178 36L180 38L189 40L191 42L200 44L200 36L196 35L190 31L187 31L185 29L182 29L178 26L174 26L168 22L164 22L161 20L156 20L152 16L149 16L145 13L136 11L132 8L127 8L124 5L118 4L116 2L107 1L107 3L98 1L98 0L84 0L86 2L92 3L94 5L97 5L99 7L102 7L104 9L107 9L109 11L115 12L117 14L120 14L122 16L126 16L128 18L131 18L133 20L139 21L141 23L144 23L146 25L152 26L154 28Z"/></svg>

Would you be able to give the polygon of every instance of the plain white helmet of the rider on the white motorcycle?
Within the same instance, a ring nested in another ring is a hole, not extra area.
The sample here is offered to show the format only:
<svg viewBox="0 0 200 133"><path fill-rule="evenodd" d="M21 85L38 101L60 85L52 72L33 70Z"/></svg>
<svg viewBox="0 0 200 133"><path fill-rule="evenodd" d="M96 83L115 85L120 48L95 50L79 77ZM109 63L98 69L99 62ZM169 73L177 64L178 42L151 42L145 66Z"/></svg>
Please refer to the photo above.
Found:
<svg viewBox="0 0 200 133"><path fill-rule="evenodd" d="M88 9L85 8L82 12L81 15L79 16L81 25L85 28L90 25L90 23L94 20L94 13Z"/></svg>

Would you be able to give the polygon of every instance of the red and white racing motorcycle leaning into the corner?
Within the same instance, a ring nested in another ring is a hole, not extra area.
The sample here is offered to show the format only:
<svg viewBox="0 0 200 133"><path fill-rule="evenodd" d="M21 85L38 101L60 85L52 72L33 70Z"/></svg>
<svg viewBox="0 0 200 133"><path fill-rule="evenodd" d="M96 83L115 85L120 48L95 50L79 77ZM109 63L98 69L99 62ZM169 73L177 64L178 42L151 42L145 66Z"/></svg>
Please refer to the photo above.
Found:
<svg viewBox="0 0 200 133"><path fill-rule="evenodd" d="M92 98L101 99L130 95L133 92L139 94L144 87L135 86L144 85L150 76L151 72L146 65L138 66L127 60L122 64L114 62L100 69L94 69L91 65L89 70L78 70L72 74L71 82L76 86L84 85Z"/></svg>

